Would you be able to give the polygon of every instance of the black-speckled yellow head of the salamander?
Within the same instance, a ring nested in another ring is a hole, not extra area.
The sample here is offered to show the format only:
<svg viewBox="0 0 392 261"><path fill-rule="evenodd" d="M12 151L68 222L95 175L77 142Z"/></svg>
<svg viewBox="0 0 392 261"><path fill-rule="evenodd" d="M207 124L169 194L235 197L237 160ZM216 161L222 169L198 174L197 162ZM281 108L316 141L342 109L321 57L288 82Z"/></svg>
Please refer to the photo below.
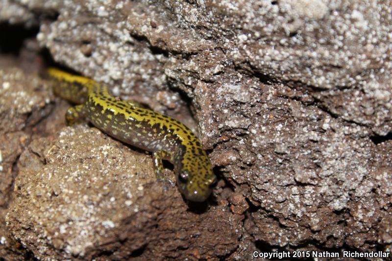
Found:
<svg viewBox="0 0 392 261"><path fill-rule="evenodd" d="M190 201L205 201L217 181L210 159L204 155L184 157L181 168L175 170L177 186L184 197Z"/></svg>

